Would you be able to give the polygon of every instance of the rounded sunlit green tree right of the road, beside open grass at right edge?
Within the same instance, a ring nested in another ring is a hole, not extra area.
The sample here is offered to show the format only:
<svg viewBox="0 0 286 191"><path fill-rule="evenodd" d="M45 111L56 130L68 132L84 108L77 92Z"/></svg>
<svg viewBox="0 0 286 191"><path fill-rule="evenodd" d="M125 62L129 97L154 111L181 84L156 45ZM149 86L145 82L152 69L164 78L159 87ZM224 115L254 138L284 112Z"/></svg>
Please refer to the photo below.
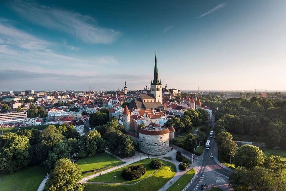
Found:
<svg viewBox="0 0 286 191"><path fill-rule="evenodd" d="M253 145L242 145L236 150L234 163L236 166L243 166L252 169L264 163L265 154Z"/></svg>

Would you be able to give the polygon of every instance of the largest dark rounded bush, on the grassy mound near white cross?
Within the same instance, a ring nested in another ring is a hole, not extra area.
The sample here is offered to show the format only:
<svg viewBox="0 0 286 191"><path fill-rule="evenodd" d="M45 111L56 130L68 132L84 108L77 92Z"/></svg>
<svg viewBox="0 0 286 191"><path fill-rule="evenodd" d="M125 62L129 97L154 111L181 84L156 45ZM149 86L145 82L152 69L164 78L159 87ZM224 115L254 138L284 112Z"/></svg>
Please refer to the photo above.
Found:
<svg viewBox="0 0 286 191"><path fill-rule="evenodd" d="M143 176L146 173L146 171L147 170L146 168L144 168L143 165L136 165L136 166L131 165L130 167L122 171L121 176L125 180L136 180L141 176Z"/></svg>

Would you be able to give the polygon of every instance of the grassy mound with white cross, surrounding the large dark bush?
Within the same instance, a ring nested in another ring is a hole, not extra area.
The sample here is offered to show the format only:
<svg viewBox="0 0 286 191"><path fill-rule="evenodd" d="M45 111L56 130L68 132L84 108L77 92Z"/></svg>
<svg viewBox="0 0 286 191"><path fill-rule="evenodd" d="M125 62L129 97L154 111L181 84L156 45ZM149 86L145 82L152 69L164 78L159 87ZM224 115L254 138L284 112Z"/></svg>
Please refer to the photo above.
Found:
<svg viewBox="0 0 286 191"><path fill-rule="evenodd" d="M125 180L121 177L121 172L126 169L128 166L114 170L110 173L103 174L101 176L95 177L90 179L89 181L94 182L114 182L114 174L116 174L116 183L125 183L130 185L122 185L122 184L84 184L85 191L89 190L116 190L116 191L126 191L126 190L159 190L164 184L166 184L173 176L176 174L176 167L173 163L170 163L168 161L164 161L161 159L158 159L159 161L166 164L166 166L163 166L160 170L154 170L150 168L149 164L151 162L151 159L143 159L141 161L138 161L132 165L143 165L147 172L144 176L137 180ZM150 176L149 176L150 175ZM149 177L148 177L149 176ZM142 181L140 181L142 180ZM139 182L140 181L140 182ZM136 184L134 184L136 183ZM133 184L133 185L132 185Z"/></svg>

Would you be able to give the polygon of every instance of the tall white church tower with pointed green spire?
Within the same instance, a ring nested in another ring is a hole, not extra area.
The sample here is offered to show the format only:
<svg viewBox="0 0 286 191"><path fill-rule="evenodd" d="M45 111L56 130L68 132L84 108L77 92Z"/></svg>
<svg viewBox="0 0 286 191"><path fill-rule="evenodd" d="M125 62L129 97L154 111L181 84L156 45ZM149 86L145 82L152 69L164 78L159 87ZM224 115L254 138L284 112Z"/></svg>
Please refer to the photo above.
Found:
<svg viewBox="0 0 286 191"><path fill-rule="evenodd" d="M154 79L151 83L151 93L153 93L155 97L155 102L162 103L162 84L159 82L158 77L158 67L157 67L157 56L155 53L155 68L154 68Z"/></svg>

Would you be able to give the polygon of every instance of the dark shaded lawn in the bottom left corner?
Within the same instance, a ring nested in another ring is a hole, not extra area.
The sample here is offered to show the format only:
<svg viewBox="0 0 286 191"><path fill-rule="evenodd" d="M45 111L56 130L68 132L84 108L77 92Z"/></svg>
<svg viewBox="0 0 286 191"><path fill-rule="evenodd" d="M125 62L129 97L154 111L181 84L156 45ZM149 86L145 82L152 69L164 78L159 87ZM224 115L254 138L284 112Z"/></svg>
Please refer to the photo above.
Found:
<svg viewBox="0 0 286 191"><path fill-rule="evenodd" d="M44 180L46 171L44 167L32 166L25 167L13 174L0 174L0 190L14 191L35 191Z"/></svg>

